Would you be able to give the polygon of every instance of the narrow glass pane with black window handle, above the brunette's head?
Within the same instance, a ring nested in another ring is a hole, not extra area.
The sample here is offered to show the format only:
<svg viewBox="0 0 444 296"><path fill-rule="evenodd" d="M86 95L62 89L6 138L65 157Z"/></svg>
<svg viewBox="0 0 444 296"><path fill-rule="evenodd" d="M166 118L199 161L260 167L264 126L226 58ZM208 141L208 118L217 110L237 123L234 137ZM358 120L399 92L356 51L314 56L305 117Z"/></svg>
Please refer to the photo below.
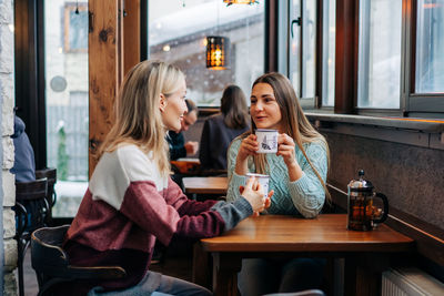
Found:
<svg viewBox="0 0 444 296"><path fill-rule="evenodd" d="M290 6L290 52L289 73L297 96L301 96L301 0L292 0Z"/></svg>

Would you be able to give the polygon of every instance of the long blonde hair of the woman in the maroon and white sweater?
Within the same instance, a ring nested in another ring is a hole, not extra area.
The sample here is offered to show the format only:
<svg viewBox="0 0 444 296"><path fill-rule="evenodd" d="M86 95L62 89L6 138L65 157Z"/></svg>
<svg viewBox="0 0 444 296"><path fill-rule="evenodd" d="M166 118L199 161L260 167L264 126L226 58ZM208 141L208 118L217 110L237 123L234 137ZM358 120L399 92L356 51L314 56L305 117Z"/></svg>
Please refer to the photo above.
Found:
<svg viewBox="0 0 444 296"><path fill-rule="evenodd" d="M114 104L115 121L98 151L98 157L120 144L134 144L152 152L161 175L170 174L165 127L160 112L161 93L168 99L176 92L184 74L161 61L143 61L125 75Z"/></svg>

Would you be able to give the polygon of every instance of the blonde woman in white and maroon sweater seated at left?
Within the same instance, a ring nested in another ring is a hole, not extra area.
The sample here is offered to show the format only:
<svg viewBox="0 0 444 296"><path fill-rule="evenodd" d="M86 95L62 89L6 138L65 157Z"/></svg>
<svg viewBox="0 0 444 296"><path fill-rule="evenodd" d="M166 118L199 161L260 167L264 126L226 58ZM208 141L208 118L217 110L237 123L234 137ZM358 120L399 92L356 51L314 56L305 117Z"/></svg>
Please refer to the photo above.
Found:
<svg viewBox="0 0 444 296"><path fill-rule="evenodd" d="M155 241L211 237L270 201L250 180L233 203L189 201L170 178L165 134L186 112L183 73L160 61L135 65L115 101L115 123L64 247L78 266L122 266L127 276L75 285L75 295L211 295L198 285L149 271Z"/></svg>

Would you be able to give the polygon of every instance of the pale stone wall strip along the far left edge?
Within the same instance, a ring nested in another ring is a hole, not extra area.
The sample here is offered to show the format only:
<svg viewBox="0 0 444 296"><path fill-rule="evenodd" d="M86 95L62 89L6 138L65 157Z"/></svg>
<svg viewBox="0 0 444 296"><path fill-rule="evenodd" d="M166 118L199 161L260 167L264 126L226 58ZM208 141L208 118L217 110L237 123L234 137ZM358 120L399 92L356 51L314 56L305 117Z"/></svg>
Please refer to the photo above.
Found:
<svg viewBox="0 0 444 296"><path fill-rule="evenodd" d="M3 211L0 223L3 237L0 237L2 275L0 284L3 295L17 295L17 280L13 271L17 267L16 220L12 206L16 202L14 176L9 172L13 165L14 147L10 135L13 133L14 105L14 39L13 39L13 0L0 0L0 157L2 177L0 180L0 201Z"/></svg>

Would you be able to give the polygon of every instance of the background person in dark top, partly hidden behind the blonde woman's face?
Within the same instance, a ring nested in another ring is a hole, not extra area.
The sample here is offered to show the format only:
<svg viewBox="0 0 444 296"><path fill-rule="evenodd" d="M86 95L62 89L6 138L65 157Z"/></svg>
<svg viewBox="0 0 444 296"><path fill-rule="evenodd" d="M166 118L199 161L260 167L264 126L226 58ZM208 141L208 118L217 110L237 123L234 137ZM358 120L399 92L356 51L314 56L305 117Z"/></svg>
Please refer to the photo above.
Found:
<svg viewBox="0 0 444 296"><path fill-rule="evenodd" d="M193 155L199 150L199 143L193 141L188 141L183 137L182 132L188 131L191 125L198 121L198 108L194 102L186 99L188 112L183 115L181 121L181 127L176 131L168 132L168 143L170 144L170 161L175 161L178 159L186 157L186 155Z"/></svg>

